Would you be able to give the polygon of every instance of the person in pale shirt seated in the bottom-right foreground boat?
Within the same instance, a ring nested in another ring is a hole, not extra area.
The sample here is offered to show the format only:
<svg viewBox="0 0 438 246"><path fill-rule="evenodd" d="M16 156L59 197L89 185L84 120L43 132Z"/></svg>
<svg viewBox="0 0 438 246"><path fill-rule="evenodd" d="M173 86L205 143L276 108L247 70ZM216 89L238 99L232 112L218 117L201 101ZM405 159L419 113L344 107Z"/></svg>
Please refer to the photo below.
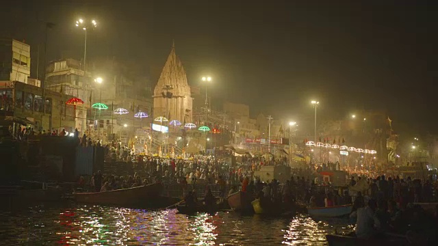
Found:
<svg viewBox="0 0 438 246"><path fill-rule="evenodd" d="M358 238L372 238L381 228L375 211L376 201L371 199L368 201L368 206L359 207L351 213L350 217L356 218L356 236Z"/></svg>

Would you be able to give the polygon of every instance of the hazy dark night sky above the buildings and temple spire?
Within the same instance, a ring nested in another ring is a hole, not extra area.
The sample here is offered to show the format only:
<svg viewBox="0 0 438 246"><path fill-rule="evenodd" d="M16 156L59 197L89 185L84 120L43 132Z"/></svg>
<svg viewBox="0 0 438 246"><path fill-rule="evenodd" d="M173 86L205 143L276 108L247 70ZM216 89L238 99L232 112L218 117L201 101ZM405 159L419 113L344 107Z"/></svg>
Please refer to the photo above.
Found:
<svg viewBox="0 0 438 246"><path fill-rule="evenodd" d="M175 40L190 85L208 74L211 93L253 114L300 122L318 99L323 118L383 109L396 131L438 133L437 1L360 2L17 0L2 3L0 28L31 44L33 72L42 22L56 24L49 60L81 58L75 20L95 18L89 59L129 60L153 85Z"/></svg>

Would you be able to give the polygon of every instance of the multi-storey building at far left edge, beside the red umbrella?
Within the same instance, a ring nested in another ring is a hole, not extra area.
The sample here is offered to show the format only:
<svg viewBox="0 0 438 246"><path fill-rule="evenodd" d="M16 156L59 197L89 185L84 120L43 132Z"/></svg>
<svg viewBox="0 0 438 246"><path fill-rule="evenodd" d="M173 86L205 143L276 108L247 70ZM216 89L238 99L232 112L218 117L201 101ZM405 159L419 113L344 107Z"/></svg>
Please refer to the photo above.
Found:
<svg viewBox="0 0 438 246"><path fill-rule="evenodd" d="M35 131L74 131L74 108L66 105L72 96L45 92L30 78L30 46L16 40L0 44L0 118L27 122Z"/></svg>

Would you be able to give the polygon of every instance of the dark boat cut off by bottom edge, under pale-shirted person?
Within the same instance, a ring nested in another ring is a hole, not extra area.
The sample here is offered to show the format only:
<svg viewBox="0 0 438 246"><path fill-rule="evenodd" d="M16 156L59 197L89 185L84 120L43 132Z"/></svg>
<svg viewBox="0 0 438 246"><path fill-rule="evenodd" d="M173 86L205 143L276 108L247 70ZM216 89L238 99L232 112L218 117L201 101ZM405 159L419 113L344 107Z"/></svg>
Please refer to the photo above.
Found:
<svg viewBox="0 0 438 246"><path fill-rule="evenodd" d="M327 242L329 242L330 246L360 246L360 245L408 245L408 241L406 238L402 236L386 236L385 238L372 238L372 239L364 239L357 238L356 236L344 236L344 235L326 235Z"/></svg>

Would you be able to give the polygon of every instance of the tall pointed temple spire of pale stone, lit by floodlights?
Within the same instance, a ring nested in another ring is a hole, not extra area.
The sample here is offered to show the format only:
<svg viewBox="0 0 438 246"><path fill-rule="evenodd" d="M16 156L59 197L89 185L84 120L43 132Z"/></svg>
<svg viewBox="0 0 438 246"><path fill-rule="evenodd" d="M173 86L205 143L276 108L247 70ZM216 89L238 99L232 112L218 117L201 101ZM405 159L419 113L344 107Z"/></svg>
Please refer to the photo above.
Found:
<svg viewBox="0 0 438 246"><path fill-rule="evenodd" d="M192 102L185 70L173 44L153 93L153 117L192 122Z"/></svg>

